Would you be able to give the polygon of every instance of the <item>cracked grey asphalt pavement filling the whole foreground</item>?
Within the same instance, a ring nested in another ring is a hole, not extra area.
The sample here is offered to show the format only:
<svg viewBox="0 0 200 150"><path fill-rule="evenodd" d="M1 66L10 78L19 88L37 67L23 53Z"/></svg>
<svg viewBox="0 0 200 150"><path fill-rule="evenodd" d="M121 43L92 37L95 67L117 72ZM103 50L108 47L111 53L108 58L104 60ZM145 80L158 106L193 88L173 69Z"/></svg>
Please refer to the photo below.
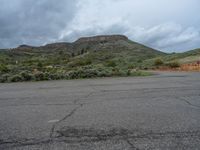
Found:
<svg viewBox="0 0 200 150"><path fill-rule="evenodd" d="M0 84L0 150L132 149L200 149L200 73Z"/></svg>

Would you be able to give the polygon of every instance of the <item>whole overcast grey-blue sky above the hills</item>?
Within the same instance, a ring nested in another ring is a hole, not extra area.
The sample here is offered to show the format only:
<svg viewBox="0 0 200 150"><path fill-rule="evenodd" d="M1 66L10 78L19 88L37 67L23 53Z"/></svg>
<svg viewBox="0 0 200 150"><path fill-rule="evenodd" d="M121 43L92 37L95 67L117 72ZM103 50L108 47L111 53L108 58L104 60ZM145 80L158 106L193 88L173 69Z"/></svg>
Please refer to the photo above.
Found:
<svg viewBox="0 0 200 150"><path fill-rule="evenodd" d="M200 48L200 0L0 0L0 48L124 34L166 51Z"/></svg>

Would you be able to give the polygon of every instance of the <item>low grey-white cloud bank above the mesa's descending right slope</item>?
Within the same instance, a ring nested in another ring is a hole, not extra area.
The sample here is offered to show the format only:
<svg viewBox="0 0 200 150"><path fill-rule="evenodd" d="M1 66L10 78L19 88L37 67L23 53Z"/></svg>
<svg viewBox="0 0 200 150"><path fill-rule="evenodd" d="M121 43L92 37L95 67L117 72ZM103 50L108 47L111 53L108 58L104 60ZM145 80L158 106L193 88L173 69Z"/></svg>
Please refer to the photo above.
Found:
<svg viewBox="0 0 200 150"><path fill-rule="evenodd" d="M137 27L130 30L128 34L138 42L169 52L193 49L195 46L198 47L200 42L200 32L196 28L183 28L175 23L151 28Z"/></svg>

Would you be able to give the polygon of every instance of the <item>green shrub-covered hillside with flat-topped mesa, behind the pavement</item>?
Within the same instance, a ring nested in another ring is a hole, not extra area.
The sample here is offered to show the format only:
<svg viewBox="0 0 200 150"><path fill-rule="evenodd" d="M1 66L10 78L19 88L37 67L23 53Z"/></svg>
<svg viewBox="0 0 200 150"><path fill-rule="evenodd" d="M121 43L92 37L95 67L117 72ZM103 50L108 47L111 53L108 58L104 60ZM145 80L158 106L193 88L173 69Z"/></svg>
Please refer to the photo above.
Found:
<svg viewBox="0 0 200 150"><path fill-rule="evenodd" d="M142 70L160 65L176 67L176 62L199 54L199 50L166 54L120 35L41 47L21 45L0 51L0 82L146 76L150 73Z"/></svg>

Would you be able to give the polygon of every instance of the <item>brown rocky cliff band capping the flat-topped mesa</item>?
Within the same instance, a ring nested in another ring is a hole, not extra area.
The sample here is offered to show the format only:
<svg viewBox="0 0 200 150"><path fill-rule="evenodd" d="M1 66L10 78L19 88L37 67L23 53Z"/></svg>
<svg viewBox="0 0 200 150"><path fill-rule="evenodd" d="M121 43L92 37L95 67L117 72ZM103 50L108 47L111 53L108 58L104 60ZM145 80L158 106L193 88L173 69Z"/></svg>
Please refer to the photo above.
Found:
<svg viewBox="0 0 200 150"><path fill-rule="evenodd" d="M75 43L85 43L85 42L104 42L104 41L118 41L118 40L128 40L126 36L123 35L101 35L93 37L83 37L78 39Z"/></svg>

